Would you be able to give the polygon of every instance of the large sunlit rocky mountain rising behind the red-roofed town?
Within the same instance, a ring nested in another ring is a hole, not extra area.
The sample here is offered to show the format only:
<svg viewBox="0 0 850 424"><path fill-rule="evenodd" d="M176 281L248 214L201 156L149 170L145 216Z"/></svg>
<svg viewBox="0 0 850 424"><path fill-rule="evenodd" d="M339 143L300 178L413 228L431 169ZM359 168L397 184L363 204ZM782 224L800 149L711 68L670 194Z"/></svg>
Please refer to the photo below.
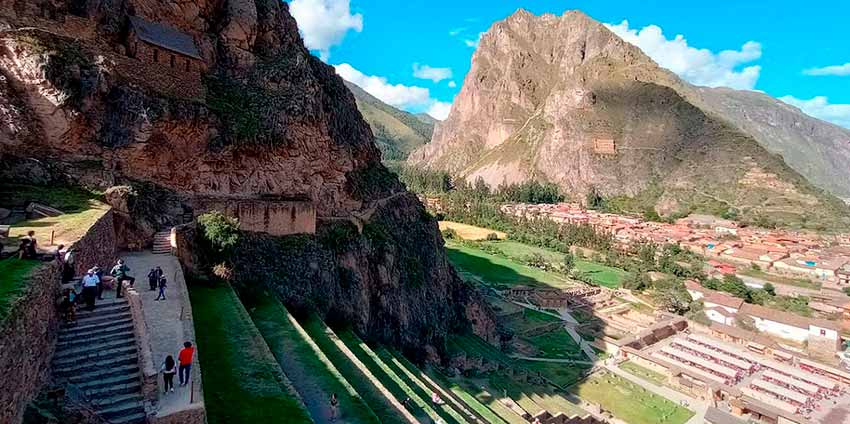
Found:
<svg viewBox="0 0 850 424"><path fill-rule="evenodd" d="M409 162L491 186L549 181L636 212L847 222L711 99L581 12L519 10L482 36L451 114Z"/></svg>

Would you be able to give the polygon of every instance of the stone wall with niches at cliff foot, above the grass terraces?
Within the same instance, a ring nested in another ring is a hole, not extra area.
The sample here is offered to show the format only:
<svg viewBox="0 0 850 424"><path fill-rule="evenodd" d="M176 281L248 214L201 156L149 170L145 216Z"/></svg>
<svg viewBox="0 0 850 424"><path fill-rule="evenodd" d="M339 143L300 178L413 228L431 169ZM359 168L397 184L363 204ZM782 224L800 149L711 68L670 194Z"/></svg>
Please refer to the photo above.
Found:
<svg viewBox="0 0 850 424"><path fill-rule="evenodd" d="M239 229L272 236L316 233L316 207L303 197L200 196L192 200L194 215L219 211L239 219Z"/></svg>

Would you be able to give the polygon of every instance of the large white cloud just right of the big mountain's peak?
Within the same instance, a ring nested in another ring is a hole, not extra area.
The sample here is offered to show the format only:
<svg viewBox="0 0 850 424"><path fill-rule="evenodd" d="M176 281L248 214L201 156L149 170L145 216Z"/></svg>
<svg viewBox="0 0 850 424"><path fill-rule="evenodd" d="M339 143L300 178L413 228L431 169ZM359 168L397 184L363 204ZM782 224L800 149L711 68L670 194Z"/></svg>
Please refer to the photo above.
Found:
<svg viewBox="0 0 850 424"><path fill-rule="evenodd" d="M681 34L668 39L657 25L640 30L629 28L628 21L605 26L622 39L640 47L659 65L696 85L752 90L761 74L761 66L758 65L739 70L741 66L761 58L761 44L755 41L747 41L740 50L714 53L689 46Z"/></svg>

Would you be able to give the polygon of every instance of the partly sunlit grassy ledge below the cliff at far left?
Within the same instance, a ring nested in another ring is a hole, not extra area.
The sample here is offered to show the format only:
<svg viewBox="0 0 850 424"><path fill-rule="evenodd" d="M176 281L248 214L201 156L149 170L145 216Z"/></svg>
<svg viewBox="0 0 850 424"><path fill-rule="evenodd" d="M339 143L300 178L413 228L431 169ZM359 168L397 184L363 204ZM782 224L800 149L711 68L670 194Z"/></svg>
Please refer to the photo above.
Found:
<svg viewBox="0 0 850 424"><path fill-rule="evenodd" d="M40 247L50 245L51 233L54 237L53 245L70 245L85 235L89 227L109 210L109 206L99 201L94 194L66 188L2 185L0 199L3 199L0 206L25 206L37 201L65 212L57 217L31 219L12 225L9 238L3 244L14 249L17 249L18 238L30 230L36 232Z"/></svg>

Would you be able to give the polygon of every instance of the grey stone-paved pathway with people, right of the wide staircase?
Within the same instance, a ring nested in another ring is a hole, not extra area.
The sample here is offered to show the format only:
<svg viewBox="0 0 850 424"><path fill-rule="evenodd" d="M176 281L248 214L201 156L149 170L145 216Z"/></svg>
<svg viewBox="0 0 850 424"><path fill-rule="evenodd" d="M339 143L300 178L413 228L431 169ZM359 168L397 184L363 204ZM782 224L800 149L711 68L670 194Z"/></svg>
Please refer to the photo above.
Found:
<svg viewBox="0 0 850 424"><path fill-rule="evenodd" d="M135 288L142 301L142 310L150 339L153 365L159 371L165 357L172 355L177 360L177 353L182 349L183 342L194 340L191 304L189 303L186 282L183 279L183 269L177 258L171 255L157 255L149 251L125 253L122 256L130 275L136 277ZM160 266L168 280L166 300L155 300L158 291L151 291L147 275L151 268ZM159 417L184 410L190 405L203 402L200 384L200 368L197 353L192 366L194 384L190 387L180 387L178 376L174 377L174 392L162 393L162 374L157 376L158 402L156 415Z"/></svg>

